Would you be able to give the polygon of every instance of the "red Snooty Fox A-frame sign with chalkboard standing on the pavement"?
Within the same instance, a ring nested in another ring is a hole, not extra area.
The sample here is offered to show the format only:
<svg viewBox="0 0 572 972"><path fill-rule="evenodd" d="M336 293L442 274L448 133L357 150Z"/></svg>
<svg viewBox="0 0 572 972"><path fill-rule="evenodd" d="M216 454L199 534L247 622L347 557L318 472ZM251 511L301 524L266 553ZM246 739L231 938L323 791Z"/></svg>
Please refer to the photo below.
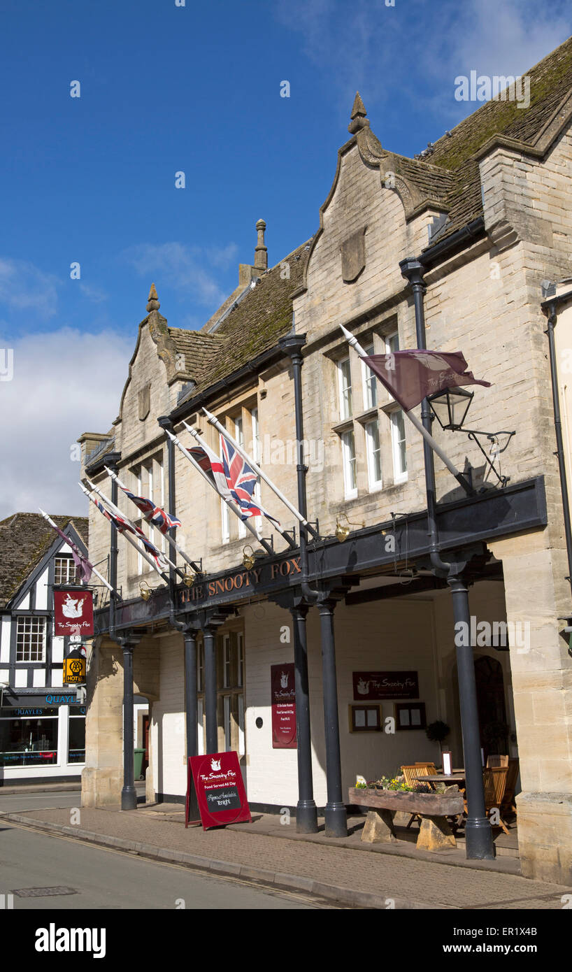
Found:
<svg viewBox="0 0 572 972"><path fill-rule="evenodd" d="M189 757L185 826L198 823L198 815L204 830L250 822L238 755L233 749Z"/></svg>

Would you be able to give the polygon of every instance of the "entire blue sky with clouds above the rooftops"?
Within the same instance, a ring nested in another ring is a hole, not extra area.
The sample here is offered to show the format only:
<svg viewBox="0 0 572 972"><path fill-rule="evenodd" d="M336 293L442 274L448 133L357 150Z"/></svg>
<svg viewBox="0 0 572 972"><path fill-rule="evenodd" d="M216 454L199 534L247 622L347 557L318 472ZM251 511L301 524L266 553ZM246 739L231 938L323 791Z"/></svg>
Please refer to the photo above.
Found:
<svg viewBox="0 0 572 972"><path fill-rule="evenodd" d="M479 107L455 101L458 74L524 73L572 33L566 8L2 0L0 516L83 510L71 444L117 414L151 281L169 325L197 328L253 260L257 219L271 264L310 236L356 88L382 145L412 156Z"/></svg>

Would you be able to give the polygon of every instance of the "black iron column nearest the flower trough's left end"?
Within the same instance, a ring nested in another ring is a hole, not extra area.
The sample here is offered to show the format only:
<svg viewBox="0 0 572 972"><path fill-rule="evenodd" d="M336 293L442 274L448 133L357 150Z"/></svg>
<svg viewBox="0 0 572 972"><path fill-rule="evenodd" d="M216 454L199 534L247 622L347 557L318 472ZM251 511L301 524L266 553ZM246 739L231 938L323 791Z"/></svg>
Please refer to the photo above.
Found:
<svg viewBox="0 0 572 972"><path fill-rule="evenodd" d="M347 815L341 793L340 718L338 713L338 677L334 641L334 608L336 602L318 602L322 633L322 680L324 724L326 729L326 837L347 837Z"/></svg>

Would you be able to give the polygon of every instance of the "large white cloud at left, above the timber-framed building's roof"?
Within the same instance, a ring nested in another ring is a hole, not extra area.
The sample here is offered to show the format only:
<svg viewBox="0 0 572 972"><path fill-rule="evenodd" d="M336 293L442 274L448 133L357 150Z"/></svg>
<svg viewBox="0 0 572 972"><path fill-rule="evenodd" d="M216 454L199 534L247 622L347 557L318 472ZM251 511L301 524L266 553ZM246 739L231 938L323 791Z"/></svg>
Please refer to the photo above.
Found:
<svg viewBox="0 0 572 972"><path fill-rule="evenodd" d="M0 346L6 346L0 338ZM72 448L106 433L119 411L132 337L63 328L11 342L14 377L0 381L0 518L38 506L87 515Z"/></svg>

